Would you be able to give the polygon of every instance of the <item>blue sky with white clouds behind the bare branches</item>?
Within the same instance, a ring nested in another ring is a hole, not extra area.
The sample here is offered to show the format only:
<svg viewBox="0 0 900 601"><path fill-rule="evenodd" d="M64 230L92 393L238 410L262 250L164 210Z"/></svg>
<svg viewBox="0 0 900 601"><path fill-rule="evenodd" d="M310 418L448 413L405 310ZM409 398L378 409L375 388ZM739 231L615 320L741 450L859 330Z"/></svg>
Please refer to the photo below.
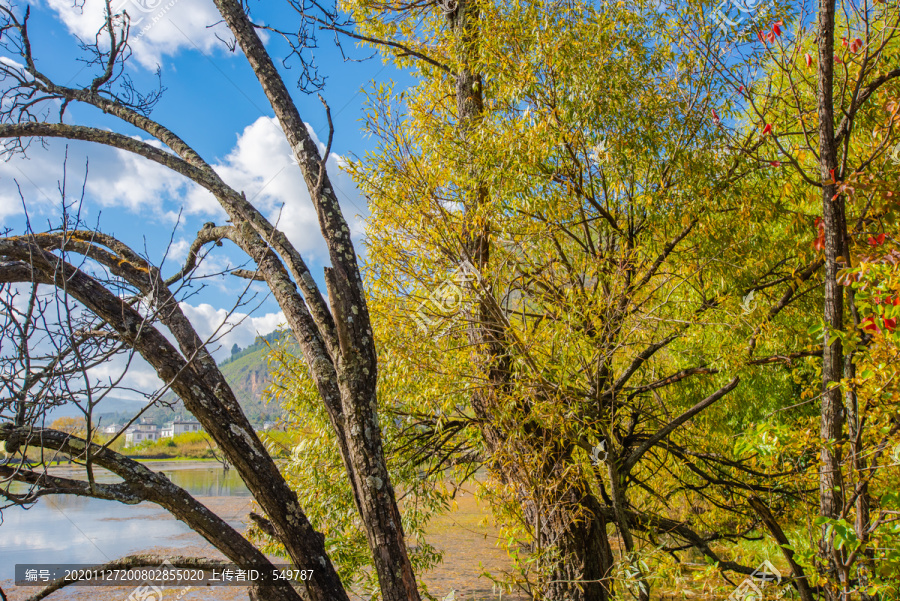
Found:
<svg viewBox="0 0 900 601"><path fill-rule="evenodd" d="M83 56L78 37L93 39L102 22L102 0L84 0L82 8L73 7L72 0L32 0L17 5L22 9L31 6L30 34L38 68L57 83L88 84L96 67L86 68L78 61ZM124 8L132 17L134 55L128 74L136 86L152 89L157 81L157 65L161 69L166 91L152 117L193 146L226 182L246 192L266 215L277 219L321 281L327 257L299 168L292 162L290 149L246 60L239 52L231 53L217 39L217 34L226 39L230 36L221 23L215 25L219 18L212 0L117 0L114 6ZM286 29L296 27L298 19L286 3L267 0L252 6L257 22L275 23ZM318 98L296 89L300 70L290 61L287 67L281 64L287 51L280 38L269 35L266 42L294 91L301 115L324 141L327 122ZM321 35L320 46L315 60L327 76L322 94L331 106L335 125L329 170L351 222L357 251L362 253L365 200L349 176L340 171L347 158L362 156L374 144L361 131L365 102L361 90L373 80L393 79L403 84L411 80L380 58L345 62L327 33ZM346 41L345 48L358 58L371 55L368 49L356 48L352 40ZM6 58L18 59L10 55ZM66 121L148 139L144 132L87 107L71 107ZM48 140L46 149L36 144L27 158L16 157L0 164L0 227L21 231L26 210L36 230L44 229L48 221L58 222L57 188L63 179L66 152L68 195L77 198L85 183L86 220L99 222L102 230L120 237L136 250L146 248L157 262L173 240L165 264L169 273L177 270L203 223L224 223L224 213L211 195L158 165L98 145ZM24 206L17 186L24 196ZM215 249L204 269L214 273L243 260L226 245ZM185 310L201 335L208 336L216 330L245 285L233 277L210 278L204 290L186 301ZM239 313L259 306L250 318L214 345L211 350L220 349L216 352L220 358L228 354L232 344L246 346L257 333L268 333L281 322L277 305L265 298L265 288L261 284L252 288L257 292L256 299ZM133 371L129 378L132 384L153 383L147 366Z"/></svg>

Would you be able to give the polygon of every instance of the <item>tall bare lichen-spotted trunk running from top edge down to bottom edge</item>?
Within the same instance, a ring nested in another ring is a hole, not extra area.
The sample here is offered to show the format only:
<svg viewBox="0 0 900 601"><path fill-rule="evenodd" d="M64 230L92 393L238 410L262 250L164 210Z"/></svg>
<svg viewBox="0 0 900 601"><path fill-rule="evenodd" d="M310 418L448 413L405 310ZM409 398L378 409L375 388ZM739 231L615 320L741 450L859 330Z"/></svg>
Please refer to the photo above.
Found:
<svg viewBox="0 0 900 601"><path fill-rule="evenodd" d="M250 62L294 150L328 246L331 268L326 269L325 280L337 338L337 344L329 346L333 367L316 362L316 357L307 357L307 361L320 388L322 379L331 383L335 372L337 375L342 411L338 416L335 415L336 408L330 408L332 423L341 430L339 438L344 438L341 451L374 557L382 597L384 601L419 601L381 440L376 398L377 355L362 277L350 229L325 170L327 157L319 156L306 124L242 3L216 0L215 4ZM279 244L289 247L286 242L279 241ZM290 253L282 255L291 268ZM321 319L327 319L327 316Z"/></svg>

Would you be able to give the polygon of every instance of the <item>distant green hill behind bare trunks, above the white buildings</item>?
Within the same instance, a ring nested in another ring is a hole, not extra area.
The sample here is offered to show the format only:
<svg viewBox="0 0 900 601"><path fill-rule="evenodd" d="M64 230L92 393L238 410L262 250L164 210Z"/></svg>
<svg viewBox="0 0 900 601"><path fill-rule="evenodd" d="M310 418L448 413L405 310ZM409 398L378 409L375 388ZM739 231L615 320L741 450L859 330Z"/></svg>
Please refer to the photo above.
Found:
<svg viewBox="0 0 900 601"><path fill-rule="evenodd" d="M238 402L244 409L250 423L262 426L267 421L277 421L281 416L281 407L276 404L267 404L263 399L263 392L272 381L269 374L267 355L269 345L287 335L284 330L275 331L266 336L257 336L253 344L245 349L237 349L231 357L219 363L219 368L234 391ZM175 417L187 416L184 404L174 393L169 392L163 396L163 402L171 405L168 407L154 407L142 416L157 426L172 421ZM122 423L128 421L130 415L106 415L103 423ZM125 419L127 417L127 419Z"/></svg>

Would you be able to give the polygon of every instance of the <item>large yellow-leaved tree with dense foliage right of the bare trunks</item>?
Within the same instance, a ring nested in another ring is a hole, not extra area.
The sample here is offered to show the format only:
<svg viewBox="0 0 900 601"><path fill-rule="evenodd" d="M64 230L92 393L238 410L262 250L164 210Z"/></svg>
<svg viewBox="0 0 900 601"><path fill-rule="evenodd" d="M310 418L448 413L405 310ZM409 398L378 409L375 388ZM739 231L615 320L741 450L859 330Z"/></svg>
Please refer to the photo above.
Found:
<svg viewBox="0 0 900 601"><path fill-rule="evenodd" d="M801 466L750 426L821 355L811 219L747 160L760 136L722 133L727 91L649 6L345 8L417 82L371 91L351 167L393 469L435 507L481 470L516 568L492 576L535 598L649 599L683 552L751 574L716 543L758 538Z"/></svg>

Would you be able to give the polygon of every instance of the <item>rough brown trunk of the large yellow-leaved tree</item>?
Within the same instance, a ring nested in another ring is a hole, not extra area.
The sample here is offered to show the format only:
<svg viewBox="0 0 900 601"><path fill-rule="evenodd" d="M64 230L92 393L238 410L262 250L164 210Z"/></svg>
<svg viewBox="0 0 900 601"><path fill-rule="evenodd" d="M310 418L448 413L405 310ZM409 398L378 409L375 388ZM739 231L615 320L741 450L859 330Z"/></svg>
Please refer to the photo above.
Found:
<svg viewBox="0 0 900 601"><path fill-rule="evenodd" d="M461 67L456 73L456 108L460 136L466 139L469 129L477 126L484 111L482 78L471 65L477 62L480 9L477 0L460 0L450 16L451 27L457 44L457 58ZM473 181L479 182L472 173ZM484 218L483 207L488 201L487 187L476 183L467 191L467 213L464 232L464 253L480 273L490 269L491 225ZM475 217L470 217L474 215ZM489 284L483 280L484 289L474 309L468 338L474 351L474 363L484 378L484 385L472 393L472 405L481 421L484 442L490 454L504 447L506 436L495 426L500 399L509 391L511 373L510 352L505 339L505 326L497 311L499 306L491 297ZM540 428L538 428L540 430ZM518 450L523 457L536 456L545 450L548 437L540 431L531 433L535 448L522 446ZM552 437L550 437L552 438ZM570 465L572 448L551 444L550 457L541 462L538 480L543 483L559 483L560 470ZM520 473L521 466L503 466L498 474L507 482L526 486L534 480L534 474ZM606 601L612 594L610 579L614 558L606 531L607 519L599 511L599 503L593 497L590 485L583 479L571 481L568 473L561 485L543 491L548 496L550 511L543 504L534 502L534 492L523 498L522 510L538 548L553 546L558 559L551 566L549 581L540 595L547 599L571 599L572 601Z"/></svg>

